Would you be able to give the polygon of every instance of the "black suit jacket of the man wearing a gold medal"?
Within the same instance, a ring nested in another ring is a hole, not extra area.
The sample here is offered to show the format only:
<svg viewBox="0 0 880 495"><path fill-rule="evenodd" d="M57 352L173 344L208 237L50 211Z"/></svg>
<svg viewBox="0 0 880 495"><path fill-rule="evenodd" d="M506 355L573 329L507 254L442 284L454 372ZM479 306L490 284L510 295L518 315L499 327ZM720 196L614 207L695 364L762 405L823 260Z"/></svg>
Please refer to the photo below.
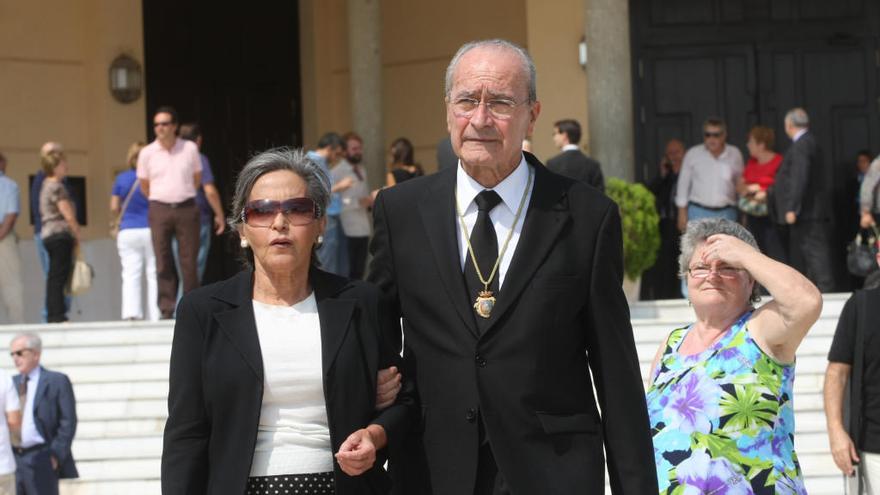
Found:
<svg viewBox="0 0 880 495"><path fill-rule="evenodd" d="M482 334L459 258L456 171L384 189L376 199L370 277L403 318L404 375L417 382L424 430L404 458L409 464L392 463L392 473L424 479L434 495L472 493L481 416L512 493L602 493L603 445L615 493L657 493L621 289L617 208L526 157L534 190ZM418 461L426 461L427 475L413 474ZM406 495L428 490L395 486Z"/></svg>

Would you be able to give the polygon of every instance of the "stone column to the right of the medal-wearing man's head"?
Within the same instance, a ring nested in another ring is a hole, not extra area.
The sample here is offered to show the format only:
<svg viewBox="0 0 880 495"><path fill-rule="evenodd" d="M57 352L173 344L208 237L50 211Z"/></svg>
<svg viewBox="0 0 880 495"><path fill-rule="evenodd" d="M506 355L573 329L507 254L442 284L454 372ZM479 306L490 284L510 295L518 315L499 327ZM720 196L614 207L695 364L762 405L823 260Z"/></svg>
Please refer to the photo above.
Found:
<svg viewBox="0 0 880 495"><path fill-rule="evenodd" d="M629 2L584 0L590 151L606 176L632 180L632 52Z"/></svg>

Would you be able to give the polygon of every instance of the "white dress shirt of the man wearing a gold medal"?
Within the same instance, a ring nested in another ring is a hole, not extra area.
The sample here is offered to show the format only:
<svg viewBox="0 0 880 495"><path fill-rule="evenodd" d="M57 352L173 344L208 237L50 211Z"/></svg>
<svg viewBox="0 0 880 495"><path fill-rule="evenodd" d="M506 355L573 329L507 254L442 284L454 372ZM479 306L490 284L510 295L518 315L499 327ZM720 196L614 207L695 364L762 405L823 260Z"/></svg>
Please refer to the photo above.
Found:
<svg viewBox="0 0 880 495"><path fill-rule="evenodd" d="M507 250L501 256L501 263L498 266L498 274L495 275L498 277L499 289L504 285L504 277L507 274L507 268L510 266L511 260L513 260L513 253L516 252L516 245L519 243L519 238L522 233L523 221L526 218L526 211L529 209L532 191L535 188L535 182L533 179L532 184L529 186L529 190L526 192L527 197L525 204L523 205L522 213L520 213L519 219L517 220L516 225L514 225L513 220L516 217L516 210L519 208L519 204L522 201L523 191L525 191L526 184L529 182L530 173L531 166L526 163L526 159L523 157L520 159L519 165L517 165L516 169L514 169L514 171L505 177L498 185L492 188L493 191L501 196L501 203L489 212L489 219L492 220L492 225L495 227L495 236L498 237L498 253L501 253L504 241L507 239L510 229L513 229L510 244L507 245ZM461 162L459 162L455 180L455 196L458 201L458 209L464 216L464 223L467 226L468 235L474 230L474 224L477 223L478 212L474 198L485 189L485 187L481 186L479 182L475 181L464 171ZM464 264L472 263L472 261L470 259L470 254L468 254L467 240L462 235L461 221L457 214L455 222L455 230L458 232L458 253L461 257L461 269L463 272ZM480 269L483 271L483 276L488 277L492 267L480 267Z"/></svg>

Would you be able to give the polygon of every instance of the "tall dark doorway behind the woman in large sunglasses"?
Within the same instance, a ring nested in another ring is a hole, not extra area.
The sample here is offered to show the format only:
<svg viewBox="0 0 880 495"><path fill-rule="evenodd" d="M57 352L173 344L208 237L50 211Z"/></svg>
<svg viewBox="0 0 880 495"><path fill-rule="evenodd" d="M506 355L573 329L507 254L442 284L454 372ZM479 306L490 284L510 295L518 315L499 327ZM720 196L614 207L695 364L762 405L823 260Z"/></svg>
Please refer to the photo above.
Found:
<svg viewBox="0 0 880 495"><path fill-rule="evenodd" d="M250 156L302 143L297 4L143 2L147 128L152 133L160 105L202 126L202 152L227 214L235 176ZM204 282L239 269L237 244L228 234L214 238Z"/></svg>

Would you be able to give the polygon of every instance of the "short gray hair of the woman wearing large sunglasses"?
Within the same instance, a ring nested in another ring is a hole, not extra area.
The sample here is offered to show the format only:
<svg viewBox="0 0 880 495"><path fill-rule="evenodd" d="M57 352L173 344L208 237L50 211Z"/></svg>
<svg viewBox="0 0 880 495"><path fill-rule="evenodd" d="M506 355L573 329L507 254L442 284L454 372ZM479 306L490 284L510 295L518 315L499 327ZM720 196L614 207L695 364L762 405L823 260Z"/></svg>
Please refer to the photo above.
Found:
<svg viewBox="0 0 880 495"><path fill-rule="evenodd" d="M330 202L330 177L323 167L309 159L302 149L273 148L255 155L238 174L235 181L235 194L232 197L232 211L227 218L229 226L235 230L242 222L244 207L257 180L277 170L289 170L300 176L306 183L306 196L318 207L318 217L324 216Z"/></svg>

